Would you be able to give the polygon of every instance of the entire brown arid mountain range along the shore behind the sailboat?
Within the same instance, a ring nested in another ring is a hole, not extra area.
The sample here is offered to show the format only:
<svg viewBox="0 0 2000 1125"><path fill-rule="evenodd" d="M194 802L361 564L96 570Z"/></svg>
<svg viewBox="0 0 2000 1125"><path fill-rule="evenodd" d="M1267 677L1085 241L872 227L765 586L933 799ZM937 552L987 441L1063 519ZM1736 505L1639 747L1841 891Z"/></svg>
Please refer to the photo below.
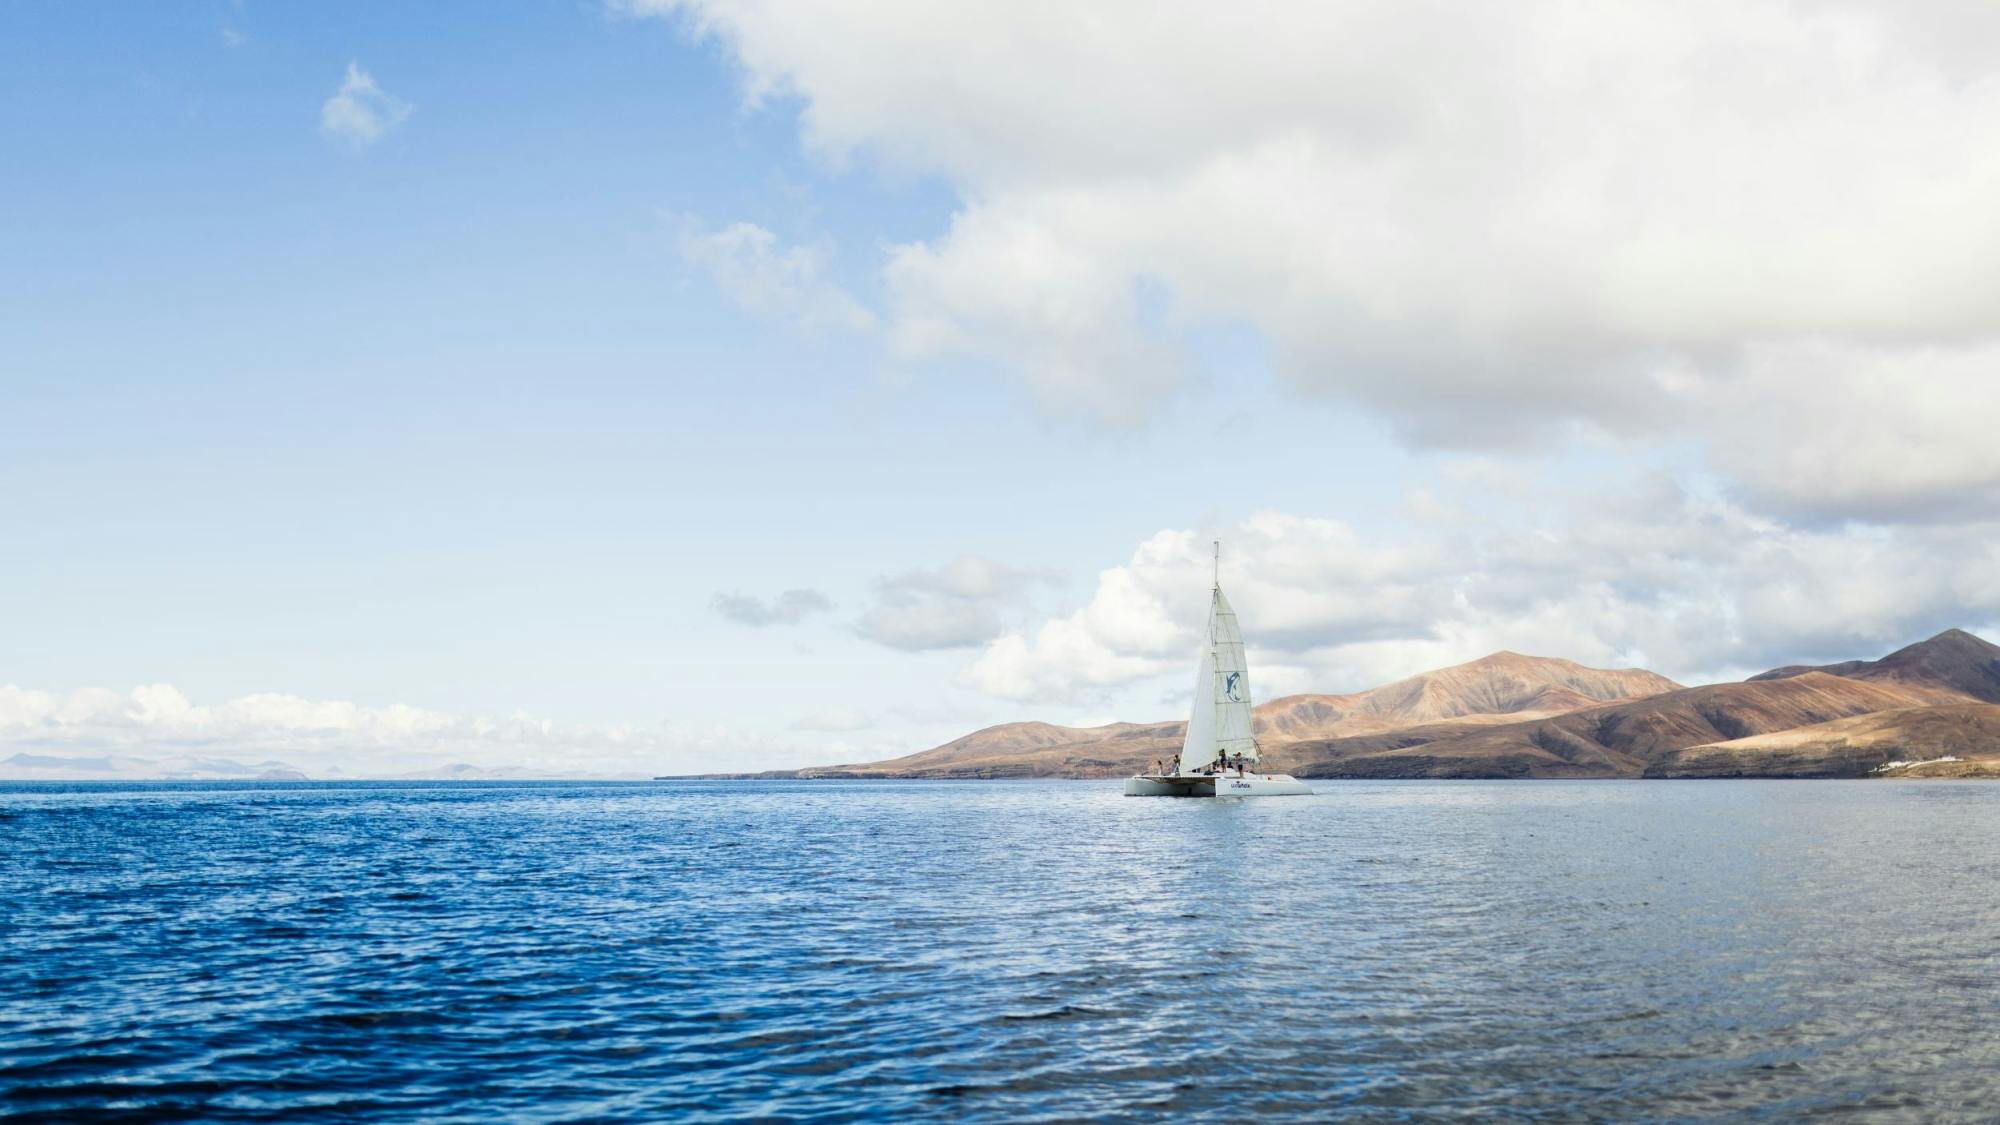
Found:
<svg viewBox="0 0 2000 1125"><path fill-rule="evenodd" d="M1006 723L930 751L796 777L1122 777L1184 723ZM1642 669L1494 653L1354 695L1256 709L1298 777L2000 775L2000 647L1950 629L1878 661L1682 687Z"/></svg>

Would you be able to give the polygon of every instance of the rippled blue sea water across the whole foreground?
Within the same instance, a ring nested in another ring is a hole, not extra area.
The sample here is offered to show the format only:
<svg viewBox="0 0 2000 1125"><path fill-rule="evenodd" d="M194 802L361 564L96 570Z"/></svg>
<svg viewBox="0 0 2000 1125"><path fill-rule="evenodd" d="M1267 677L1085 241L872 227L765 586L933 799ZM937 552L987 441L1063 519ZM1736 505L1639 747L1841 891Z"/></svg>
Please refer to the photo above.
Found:
<svg viewBox="0 0 2000 1125"><path fill-rule="evenodd" d="M0 785L0 1115L2000 1115L2000 785L1318 789Z"/></svg>

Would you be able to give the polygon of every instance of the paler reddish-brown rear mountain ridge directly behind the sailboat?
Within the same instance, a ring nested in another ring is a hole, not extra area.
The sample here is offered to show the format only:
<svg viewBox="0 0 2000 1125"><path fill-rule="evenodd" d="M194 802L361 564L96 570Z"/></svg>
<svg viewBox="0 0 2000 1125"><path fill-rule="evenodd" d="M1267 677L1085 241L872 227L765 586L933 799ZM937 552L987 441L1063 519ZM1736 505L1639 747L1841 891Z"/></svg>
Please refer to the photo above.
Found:
<svg viewBox="0 0 2000 1125"><path fill-rule="evenodd" d="M1468 731L1638 699L1680 685L1644 669L1586 669L1572 661L1494 653L1352 695L1290 695L1256 709L1258 741L1282 769L1290 745L1426 725ZM800 777L1124 777L1180 751L1186 723L1056 727L1004 723L942 747Z"/></svg>

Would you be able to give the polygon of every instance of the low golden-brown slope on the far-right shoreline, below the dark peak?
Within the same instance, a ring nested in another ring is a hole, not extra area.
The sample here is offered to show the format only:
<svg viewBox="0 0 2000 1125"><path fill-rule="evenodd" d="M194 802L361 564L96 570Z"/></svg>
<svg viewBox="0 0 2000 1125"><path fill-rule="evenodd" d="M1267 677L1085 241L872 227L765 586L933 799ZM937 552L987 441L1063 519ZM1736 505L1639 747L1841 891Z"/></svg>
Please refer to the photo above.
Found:
<svg viewBox="0 0 2000 1125"><path fill-rule="evenodd" d="M1956 763L1944 759L1958 759ZM1914 763L1890 767L1890 763ZM1664 755L1646 777L1970 777L2000 773L2000 705L1876 711Z"/></svg>

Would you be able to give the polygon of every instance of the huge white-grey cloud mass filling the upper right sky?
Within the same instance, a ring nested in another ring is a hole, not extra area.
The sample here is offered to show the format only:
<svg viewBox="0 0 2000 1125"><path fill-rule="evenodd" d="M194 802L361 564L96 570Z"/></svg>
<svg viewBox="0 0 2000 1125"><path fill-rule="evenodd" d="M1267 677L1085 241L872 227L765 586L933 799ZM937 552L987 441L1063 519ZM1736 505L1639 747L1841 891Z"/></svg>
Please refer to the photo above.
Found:
<svg viewBox="0 0 2000 1125"><path fill-rule="evenodd" d="M1936 424L2000 382L1988 6L622 6L796 94L810 148L958 188L884 262L900 354L1124 418L1248 324L1412 442L1692 432L1766 510L2000 504Z"/></svg>

